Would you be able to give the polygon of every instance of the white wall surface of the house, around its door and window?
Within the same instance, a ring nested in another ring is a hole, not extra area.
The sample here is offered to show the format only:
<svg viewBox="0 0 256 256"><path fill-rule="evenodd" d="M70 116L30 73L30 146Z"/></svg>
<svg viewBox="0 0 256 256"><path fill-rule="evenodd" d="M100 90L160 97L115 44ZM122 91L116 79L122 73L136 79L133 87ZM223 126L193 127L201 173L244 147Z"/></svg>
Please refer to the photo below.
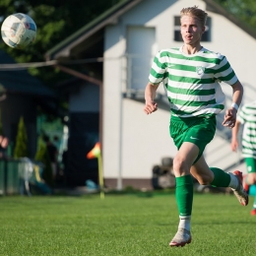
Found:
<svg viewBox="0 0 256 256"><path fill-rule="evenodd" d="M154 164L160 163L162 157L174 157L176 149L168 134L169 112L159 110L147 116L143 113L143 103L131 99L121 101L122 76L125 74L121 72L121 56L126 52L126 27L131 25L156 28L156 53L161 48L181 45L173 41L173 17L178 16L183 7L192 5L205 9L205 2L200 0L193 3L190 0L143 1L125 13L117 25L106 28L103 77L105 178L116 178L120 172L124 178L151 178ZM239 80L253 85L255 39L224 17L209 11L208 14L212 18L212 41L202 43L203 46L226 55ZM228 86L224 86L224 92L231 95ZM255 98L255 93L245 88L245 96ZM219 143L213 141L211 147L215 148ZM228 145L227 142L224 144ZM213 153L209 149L208 152L215 154L215 158L222 155L222 151ZM210 160L211 156L207 155L207 158Z"/></svg>

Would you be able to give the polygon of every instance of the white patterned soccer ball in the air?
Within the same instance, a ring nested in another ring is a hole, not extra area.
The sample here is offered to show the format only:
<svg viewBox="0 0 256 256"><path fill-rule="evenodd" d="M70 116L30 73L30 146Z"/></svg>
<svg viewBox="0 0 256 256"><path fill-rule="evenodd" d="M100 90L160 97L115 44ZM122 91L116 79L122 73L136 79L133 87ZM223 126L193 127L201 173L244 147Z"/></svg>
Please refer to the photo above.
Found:
<svg viewBox="0 0 256 256"><path fill-rule="evenodd" d="M36 36L36 25L29 15L17 13L8 16L1 27L4 42L12 48L25 48Z"/></svg>

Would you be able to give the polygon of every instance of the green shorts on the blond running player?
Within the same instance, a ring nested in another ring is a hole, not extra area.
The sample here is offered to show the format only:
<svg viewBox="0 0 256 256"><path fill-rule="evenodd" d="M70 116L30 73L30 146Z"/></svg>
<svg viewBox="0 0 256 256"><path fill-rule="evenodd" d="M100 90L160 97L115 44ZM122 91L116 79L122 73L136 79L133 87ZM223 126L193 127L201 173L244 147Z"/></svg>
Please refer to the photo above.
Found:
<svg viewBox="0 0 256 256"><path fill-rule="evenodd" d="M204 150L216 132L216 115L180 118L170 117L169 134L177 149L184 142L191 142L199 148L197 160L201 158Z"/></svg>

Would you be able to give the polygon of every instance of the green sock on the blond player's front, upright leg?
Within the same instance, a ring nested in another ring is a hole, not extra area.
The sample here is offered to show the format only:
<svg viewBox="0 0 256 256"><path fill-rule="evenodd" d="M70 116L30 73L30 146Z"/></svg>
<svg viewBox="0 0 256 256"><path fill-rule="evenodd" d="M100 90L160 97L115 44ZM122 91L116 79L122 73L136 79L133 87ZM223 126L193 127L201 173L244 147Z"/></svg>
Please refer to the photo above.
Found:
<svg viewBox="0 0 256 256"><path fill-rule="evenodd" d="M176 201L179 216L191 216L193 203L193 179L191 175L175 178L176 181Z"/></svg>

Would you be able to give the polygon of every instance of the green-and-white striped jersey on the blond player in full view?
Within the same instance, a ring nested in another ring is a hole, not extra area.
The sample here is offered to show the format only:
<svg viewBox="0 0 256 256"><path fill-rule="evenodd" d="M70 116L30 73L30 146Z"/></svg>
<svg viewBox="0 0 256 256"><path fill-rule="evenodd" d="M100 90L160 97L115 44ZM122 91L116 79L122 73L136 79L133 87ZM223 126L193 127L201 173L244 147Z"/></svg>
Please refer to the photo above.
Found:
<svg viewBox="0 0 256 256"><path fill-rule="evenodd" d="M160 50L155 56L149 80L163 83L171 114L179 117L218 114L224 109L221 82L237 82L225 56L202 48L187 55L180 48Z"/></svg>

